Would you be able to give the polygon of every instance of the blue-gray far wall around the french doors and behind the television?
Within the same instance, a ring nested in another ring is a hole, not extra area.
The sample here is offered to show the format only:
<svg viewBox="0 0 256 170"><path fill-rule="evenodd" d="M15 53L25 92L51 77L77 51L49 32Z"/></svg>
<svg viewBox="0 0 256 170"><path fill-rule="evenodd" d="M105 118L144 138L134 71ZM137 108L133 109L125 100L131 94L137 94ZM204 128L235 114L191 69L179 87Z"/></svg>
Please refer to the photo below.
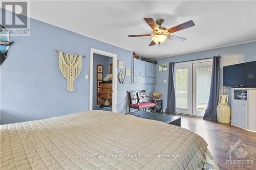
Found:
<svg viewBox="0 0 256 170"><path fill-rule="evenodd" d="M196 53L189 53L184 55L178 55L173 57L158 59L158 65L162 63L169 62L181 62L196 59L210 58L213 56L221 56L221 82L220 82L220 92L221 94L228 94L231 96L230 88L223 87L223 66L238 64L243 62L255 61L256 60L256 42L244 43L239 45L232 45L222 48L215 48L212 50L206 50ZM169 69L169 68L168 68ZM163 93L163 109L166 109L167 103L167 86L168 86L168 70L159 71L157 68L157 83L155 87L156 92ZM164 83L166 80L166 83ZM231 99L229 98L229 104L231 104Z"/></svg>

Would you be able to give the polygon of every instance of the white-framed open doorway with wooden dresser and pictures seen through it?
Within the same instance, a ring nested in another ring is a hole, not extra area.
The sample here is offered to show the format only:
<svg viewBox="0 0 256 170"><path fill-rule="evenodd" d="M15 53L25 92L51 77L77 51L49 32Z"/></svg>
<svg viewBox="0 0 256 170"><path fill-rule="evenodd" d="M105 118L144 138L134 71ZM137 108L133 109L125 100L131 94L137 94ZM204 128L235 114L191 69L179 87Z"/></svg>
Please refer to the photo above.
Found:
<svg viewBox="0 0 256 170"><path fill-rule="evenodd" d="M90 110L116 112L117 55L91 48Z"/></svg>

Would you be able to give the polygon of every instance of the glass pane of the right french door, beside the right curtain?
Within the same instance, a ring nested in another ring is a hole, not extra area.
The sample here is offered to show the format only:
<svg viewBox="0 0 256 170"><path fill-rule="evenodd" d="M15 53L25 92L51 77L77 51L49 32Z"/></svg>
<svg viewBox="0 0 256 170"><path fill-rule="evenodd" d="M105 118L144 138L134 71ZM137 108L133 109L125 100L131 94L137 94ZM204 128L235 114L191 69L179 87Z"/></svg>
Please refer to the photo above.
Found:
<svg viewBox="0 0 256 170"><path fill-rule="evenodd" d="M197 111L205 111L210 95L212 66L197 67Z"/></svg>

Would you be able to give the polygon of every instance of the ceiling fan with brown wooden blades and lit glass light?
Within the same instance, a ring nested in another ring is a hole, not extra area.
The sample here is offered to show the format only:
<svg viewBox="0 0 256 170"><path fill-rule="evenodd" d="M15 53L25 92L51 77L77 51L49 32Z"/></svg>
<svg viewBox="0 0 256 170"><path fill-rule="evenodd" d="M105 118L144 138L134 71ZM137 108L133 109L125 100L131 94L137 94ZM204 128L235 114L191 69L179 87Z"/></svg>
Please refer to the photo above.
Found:
<svg viewBox="0 0 256 170"><path fill-rule="evenodd" d="M146 23L152 28L153 33L152 34L141 34L141 35L128 35L128 37L147 37L147 36L153 36L152 41L149 46L155 45L156 43L161 44L166 39L176 40L176 41L184 41L186 38L178 37L175 35L171 35L174 32L187 29L189 27L194 27L195 23L193 20L184 22L178 26L166 29L164 27L161 27L164 19L158 19L156 22L153 18L144 18ZM159 25L159 27L157 26Z"/></svg>

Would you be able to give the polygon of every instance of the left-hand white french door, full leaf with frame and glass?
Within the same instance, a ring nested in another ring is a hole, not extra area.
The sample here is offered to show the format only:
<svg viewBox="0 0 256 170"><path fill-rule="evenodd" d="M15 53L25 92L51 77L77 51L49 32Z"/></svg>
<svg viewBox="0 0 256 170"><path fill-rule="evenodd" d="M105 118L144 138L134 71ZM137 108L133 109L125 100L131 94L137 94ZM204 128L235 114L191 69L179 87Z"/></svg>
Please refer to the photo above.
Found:
<svg viewBox="0 0 256 170"><path fill-rule="evenodd" d="M175 65L176 112L192 114L192 64Z"/></svg>

